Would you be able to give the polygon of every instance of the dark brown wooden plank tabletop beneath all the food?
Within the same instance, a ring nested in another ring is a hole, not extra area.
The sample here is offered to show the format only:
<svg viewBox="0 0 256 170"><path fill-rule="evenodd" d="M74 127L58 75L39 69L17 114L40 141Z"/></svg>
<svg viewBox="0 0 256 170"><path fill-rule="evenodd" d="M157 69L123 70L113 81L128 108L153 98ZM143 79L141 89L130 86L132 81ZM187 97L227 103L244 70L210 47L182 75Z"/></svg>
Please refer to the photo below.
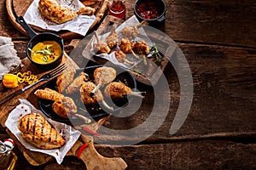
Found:
<svg viewBox="0 0 256 170"><path fill-rule="evenodd" d="M102 156L122 157L127 169L255 169L256 2L165 2L166 20L160 30L177 42L192 72L194 96L189 116L177 133L169 133L181 97L177 72L170 64L164 72L171 90L170 108L156 132L139 144L96 144L96 150ZM126 3L129 18L135 0ZM0 18L0 36L11 37L17 54L25 58L28 37L10 24L4 1L0 2ZM147 90L147 95L137 114L122 120L111 116L105 127L127 129L145 121L154 105L154 92L140 83L138 88ZM1 139L8 138L5 127L0 133ZM109 140L121 138L115 137ZM20 150L15 149L15 154L17 169L85 168L73 156L67 156L61 165L50 161L33 167Z"/></svg>

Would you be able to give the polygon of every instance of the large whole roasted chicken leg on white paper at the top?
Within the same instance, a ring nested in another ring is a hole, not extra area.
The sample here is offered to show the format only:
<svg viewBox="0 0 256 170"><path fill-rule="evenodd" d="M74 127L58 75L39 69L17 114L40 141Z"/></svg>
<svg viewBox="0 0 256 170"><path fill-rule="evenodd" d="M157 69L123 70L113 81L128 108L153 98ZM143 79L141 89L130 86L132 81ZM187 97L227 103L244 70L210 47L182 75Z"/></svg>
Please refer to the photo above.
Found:
<svg viewBox="0 0 256 170"><path fill-rule="evenodd" d="M79 14L91 15L95 13L95 9L90 7L80 8L79 10L61 7L61 4L56 0L39 0L38 8L44 18L57 24L73 20Z"/></svg>

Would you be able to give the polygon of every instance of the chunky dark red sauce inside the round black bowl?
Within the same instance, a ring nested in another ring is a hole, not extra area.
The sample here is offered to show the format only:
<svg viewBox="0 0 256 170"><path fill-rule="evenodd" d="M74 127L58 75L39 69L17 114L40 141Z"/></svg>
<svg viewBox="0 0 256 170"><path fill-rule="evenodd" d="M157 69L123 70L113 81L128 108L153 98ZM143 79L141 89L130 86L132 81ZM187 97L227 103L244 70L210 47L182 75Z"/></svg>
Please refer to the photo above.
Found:
<svg viewBox="0 0 256 170"><path fill-rule="evenodd" d="M152 20L156 19L163 13L163 8L160 7L159 3L142 1L137 4L136 12L143 19Z"/></svg>

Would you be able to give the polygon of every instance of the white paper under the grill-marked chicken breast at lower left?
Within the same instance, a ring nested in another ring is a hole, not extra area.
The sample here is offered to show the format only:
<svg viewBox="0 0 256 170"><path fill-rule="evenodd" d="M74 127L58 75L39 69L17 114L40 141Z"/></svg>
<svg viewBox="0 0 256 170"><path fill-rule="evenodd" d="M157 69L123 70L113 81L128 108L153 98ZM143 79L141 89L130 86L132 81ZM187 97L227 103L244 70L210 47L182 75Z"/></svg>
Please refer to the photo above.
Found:
<svg viewBox="0 0 256 170"><path fill-rule="evenodd" d="M70 150L73 147L73 144L77 141L77 139L79 139L81 133L65 123L55 122L44 116L47 119L47 121L55 127L57 132L61 132L61 136L63 136L64 139L66 139L66 144L64 144L61 148L54 150L38 149L32 144L29 144L22 137L20 130L18 129L18 122L20 116L24 116L31 112L38 112L42 116L44 116L44 114L41 111L35 109L34 106L31 105L26 99L20 99L20 105L17 105L16 108L9 113L8 119L5 122L5 126L9 128L11 133L15 134L15 137L19 139L20 143L23 144L26 147L26 149L48 154L49 156L54 156L56 161L59 164L61 164L68 150Z"/></svg>

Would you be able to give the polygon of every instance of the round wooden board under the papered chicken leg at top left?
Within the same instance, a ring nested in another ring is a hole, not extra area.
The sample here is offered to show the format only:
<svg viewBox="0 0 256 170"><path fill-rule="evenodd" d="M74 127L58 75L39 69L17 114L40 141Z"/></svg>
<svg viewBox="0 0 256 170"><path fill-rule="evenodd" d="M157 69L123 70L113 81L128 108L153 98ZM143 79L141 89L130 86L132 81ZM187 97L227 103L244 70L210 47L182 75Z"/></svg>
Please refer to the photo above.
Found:
<svg viewBox="0 0 256 170"><path fill-rule="evenodd" d="M100 23L102 21L102 18L104 14L108 11L108 3L111 0L92 0L92 1L84 1L84 5L90 6L91 8L96 9L96 20L90 26L91 30L96 24ZM15 19L18 16L24 16L26 13L26 9L30 6L30 4L33 2L33 0L23 0L22 3L20 3L20 0L6 0L6 8L7 8L7 15L9 17L10 22L12 23L15 28L26 35L26 31L15 21ZM90 2L90 3L88 3ZM107 8L106 8L107 7ZM37 26L31 26L35 31L38 33L44 31L42 28L39 28ZM59 36L61 36L64 39L67 38L75 38L75 37L82 37L81 35L71 32L71 31L58 31L55 32Z"/></svg>

